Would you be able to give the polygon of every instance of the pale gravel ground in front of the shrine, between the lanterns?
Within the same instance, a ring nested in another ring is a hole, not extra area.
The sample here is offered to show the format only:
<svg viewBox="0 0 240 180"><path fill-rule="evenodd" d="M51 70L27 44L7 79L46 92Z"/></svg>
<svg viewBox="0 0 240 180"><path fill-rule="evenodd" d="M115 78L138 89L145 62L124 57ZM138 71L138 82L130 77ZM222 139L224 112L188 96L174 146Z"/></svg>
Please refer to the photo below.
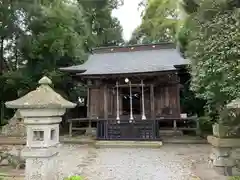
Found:
<svg viewBox="0 0 240 180"><path fill-rule="evenodd" d="M209 171L209 145L164 145L160 149L102 148L62 145L57 157L60 176L88 180L222 180ZM206 176L206 175L205 175Z"/></svg>

